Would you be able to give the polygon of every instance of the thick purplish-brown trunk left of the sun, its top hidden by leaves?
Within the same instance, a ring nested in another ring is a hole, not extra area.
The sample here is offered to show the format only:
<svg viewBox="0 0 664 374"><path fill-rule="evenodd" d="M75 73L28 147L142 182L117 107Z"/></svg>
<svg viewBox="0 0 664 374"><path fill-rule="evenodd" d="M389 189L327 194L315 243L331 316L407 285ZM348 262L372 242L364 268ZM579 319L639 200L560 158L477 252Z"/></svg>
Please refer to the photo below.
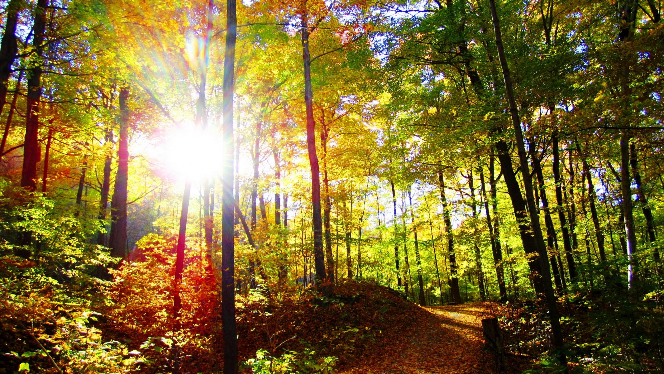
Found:
<svg viewBox="0 0 664 374"><path fill-rule="evenodd" d="M111 200L111 233L108 246L114 257L127 257L127 173L129 171L129 89L120 89L120 136L118 138L118 172Z"/></svg>

